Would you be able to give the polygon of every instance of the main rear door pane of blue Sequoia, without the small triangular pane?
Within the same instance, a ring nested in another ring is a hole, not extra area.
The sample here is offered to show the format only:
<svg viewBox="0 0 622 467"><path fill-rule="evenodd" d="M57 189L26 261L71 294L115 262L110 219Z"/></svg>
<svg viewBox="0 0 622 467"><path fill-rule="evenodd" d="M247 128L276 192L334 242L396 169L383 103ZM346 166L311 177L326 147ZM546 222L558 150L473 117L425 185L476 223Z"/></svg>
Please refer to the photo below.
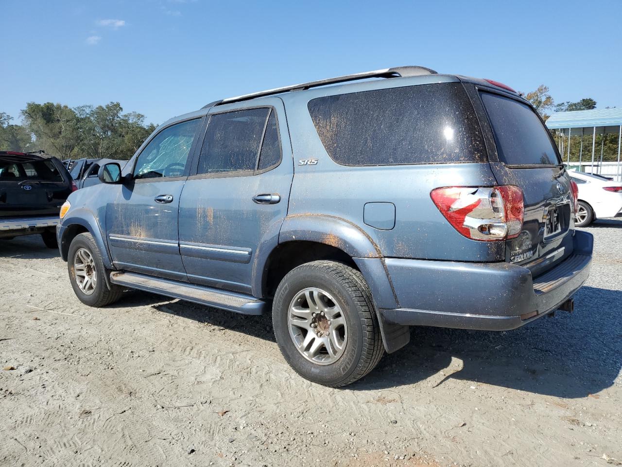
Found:
<svg viewBox="0 0 622 467"><path fill-rule="evenodd" d="M254 171L269 111L254 108L212 115L197 174Z"/></svg>

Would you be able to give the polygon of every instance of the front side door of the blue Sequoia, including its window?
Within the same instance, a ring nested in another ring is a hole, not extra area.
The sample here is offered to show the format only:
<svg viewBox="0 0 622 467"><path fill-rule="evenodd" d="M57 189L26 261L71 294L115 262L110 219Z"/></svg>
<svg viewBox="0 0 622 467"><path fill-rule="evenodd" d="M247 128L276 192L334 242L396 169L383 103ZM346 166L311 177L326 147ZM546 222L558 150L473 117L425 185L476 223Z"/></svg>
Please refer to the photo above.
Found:
<svg viewBox="0 0 622 467"><path fill-rule="evenodd" d="M157 133L137 156L132 181L111 185L108 245L116 267L187 281L179 253L179 200L202 118Z"/></svg>

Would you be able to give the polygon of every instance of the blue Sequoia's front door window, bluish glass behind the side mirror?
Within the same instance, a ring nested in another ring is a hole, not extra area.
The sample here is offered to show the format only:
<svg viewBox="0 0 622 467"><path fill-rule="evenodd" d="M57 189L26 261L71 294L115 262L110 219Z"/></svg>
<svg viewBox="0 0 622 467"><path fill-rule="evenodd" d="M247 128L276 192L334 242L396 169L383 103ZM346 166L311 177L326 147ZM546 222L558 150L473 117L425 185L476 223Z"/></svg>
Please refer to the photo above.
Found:
<svg viewBox="0 0 622 467"><path fill-rule="evenodd" d="M134 177L182 176L199 122L198 118L188 120L160 131L139 154Z"/></svg>

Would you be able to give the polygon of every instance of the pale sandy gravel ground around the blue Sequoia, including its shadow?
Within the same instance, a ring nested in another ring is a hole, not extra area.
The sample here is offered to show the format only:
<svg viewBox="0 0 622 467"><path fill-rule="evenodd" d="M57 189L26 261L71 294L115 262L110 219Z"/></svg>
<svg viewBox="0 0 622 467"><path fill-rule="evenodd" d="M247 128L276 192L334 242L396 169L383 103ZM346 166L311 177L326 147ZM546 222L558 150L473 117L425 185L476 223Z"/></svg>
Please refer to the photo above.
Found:
<svg viewBox="0 0 622 467"><path fill-rule="evenodd" d="M587 230L575 313L413 328L345 389L289 369L269 316L138 292L88 308L38 237L0 242L0 465L616 464L622 222Z"/></svg>

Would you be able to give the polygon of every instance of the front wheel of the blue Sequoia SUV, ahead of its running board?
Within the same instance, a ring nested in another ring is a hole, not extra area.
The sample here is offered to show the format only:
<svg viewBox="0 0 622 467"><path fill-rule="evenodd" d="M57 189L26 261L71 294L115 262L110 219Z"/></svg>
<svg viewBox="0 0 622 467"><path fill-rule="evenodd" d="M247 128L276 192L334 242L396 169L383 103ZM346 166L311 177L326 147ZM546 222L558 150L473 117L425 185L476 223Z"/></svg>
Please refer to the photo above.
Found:
<svg viewBox="0 0 622 467"><path fill-rule="evenodd" d="M90 255L92 264L87 264L86 261L80 259L82 257L88 257L85 251L88 255ZM80 255L78 260L77 255ZM95 277L95 281L91 281L90 284L92 287L87 286L90 291L83 291L80 283L78 283L76 276L77 261L82 265L86 265L85 268L79 268L78 270L80 278L82 277L82 275L80 275L80 271L90 273L91 278L93 276ZM73 238L71 245L69 245L67 270L69 271L69 280L72 283L73 291L78 297L78 300L88 306L106 306L119 300L121 294L123 293L123 289L116 285L111 285L111 290L108 290L105 275L107 275L109 271L104 267L104 263L101 260L100 250L97 248L93 235L88 232L76 235L75 238Z"/></svg>

